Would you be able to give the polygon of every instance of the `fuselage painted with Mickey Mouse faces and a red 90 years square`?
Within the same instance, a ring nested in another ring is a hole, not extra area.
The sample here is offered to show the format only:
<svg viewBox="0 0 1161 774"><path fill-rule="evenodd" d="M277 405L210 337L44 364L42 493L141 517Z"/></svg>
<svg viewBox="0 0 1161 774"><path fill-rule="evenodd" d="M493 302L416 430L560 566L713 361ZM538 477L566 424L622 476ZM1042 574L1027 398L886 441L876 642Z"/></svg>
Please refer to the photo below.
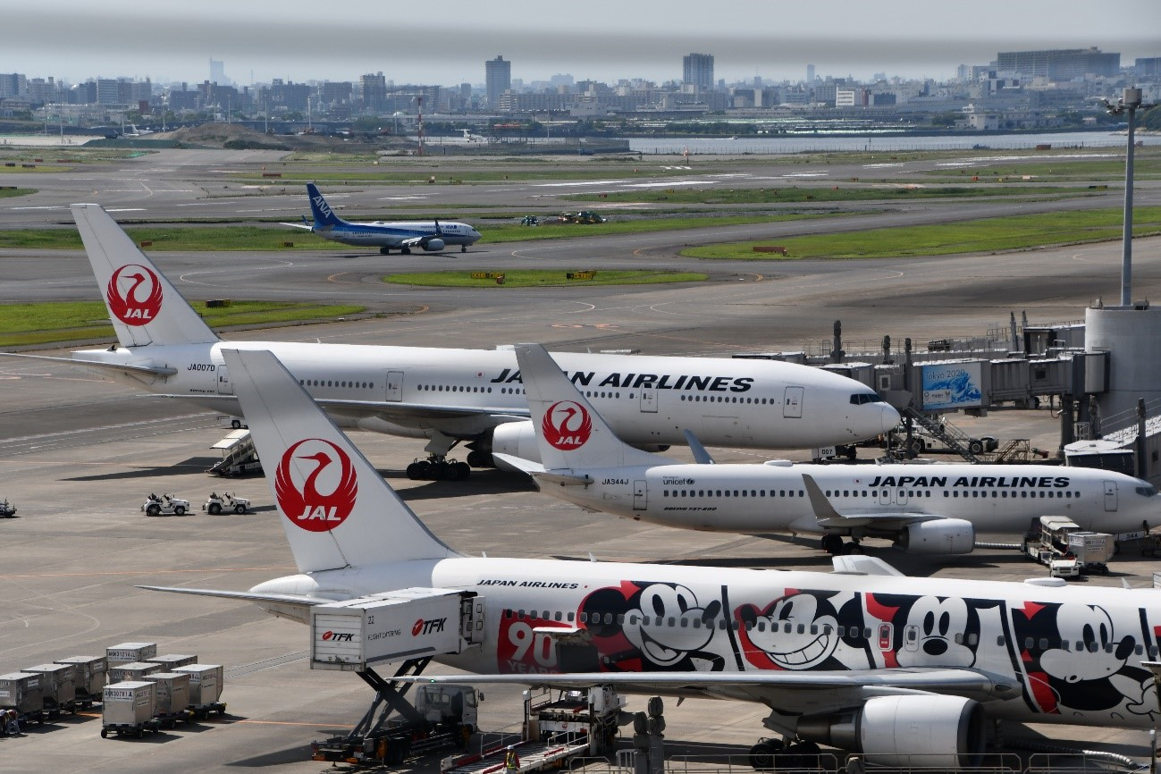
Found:
<svg viewBox="0 0 1161 774"><path fill-rule="evenodd" d="M1159 656L1161 592L1152 588L926 578L920 593L904 577L453 558L251 591L346 599L409 586L484 598L482 646L441 659L482 674L949 667L990 679L991 694L976 699L994 717L1140 728L1161 717L1141 665ZM585 645L564 654L554 629L579 630ZM762 700L759 687L705 693ZM852 692L852 706L864 700Z"/></svg>

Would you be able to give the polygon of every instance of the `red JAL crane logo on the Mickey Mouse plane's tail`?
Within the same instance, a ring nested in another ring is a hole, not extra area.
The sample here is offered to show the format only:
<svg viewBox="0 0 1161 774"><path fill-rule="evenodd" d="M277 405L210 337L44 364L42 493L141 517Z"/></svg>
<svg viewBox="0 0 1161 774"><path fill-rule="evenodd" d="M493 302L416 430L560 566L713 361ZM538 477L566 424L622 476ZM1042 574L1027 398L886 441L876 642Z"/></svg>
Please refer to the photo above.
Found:
<svg viewBox="0 0 1161 774"><path fill-rule="evenodd" d="M304 439L282 453L274 476L279 509L297 527L325 533L355 507L359 482L347 453L323 439Z"/></svg>

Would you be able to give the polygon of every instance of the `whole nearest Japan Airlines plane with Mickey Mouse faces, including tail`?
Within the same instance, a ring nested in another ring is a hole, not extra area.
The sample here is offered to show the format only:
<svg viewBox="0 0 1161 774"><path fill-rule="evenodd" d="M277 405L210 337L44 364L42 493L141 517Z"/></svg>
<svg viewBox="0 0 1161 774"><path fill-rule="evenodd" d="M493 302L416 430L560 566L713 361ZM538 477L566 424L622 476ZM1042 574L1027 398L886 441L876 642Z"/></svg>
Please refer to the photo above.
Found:
<svg viewBox="0 0 1161 774"><path fill-rule="evenodd" d="M866 556L835 557L835 573L469 557L428 531L274 355L223 356L298 573L245 592L146 588L301 622L319 603L456 589L482 627L435 658L477 673L469 682L763 703L784 742L751 757L776 766L827 744L951 771L979 758L994 718L1142 730L1161 718L1146 664L1161 644L1153 588L913 579Z"/></svg>

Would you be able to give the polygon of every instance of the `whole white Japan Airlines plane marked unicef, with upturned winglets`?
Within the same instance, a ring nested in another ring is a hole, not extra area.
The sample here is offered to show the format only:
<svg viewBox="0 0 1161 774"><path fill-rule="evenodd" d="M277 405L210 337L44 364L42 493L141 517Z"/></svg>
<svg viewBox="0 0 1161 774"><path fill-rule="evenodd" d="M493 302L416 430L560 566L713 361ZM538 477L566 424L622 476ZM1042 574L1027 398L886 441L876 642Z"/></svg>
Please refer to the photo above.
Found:
<svg viewBox="0 0 1161 774"><path fill-rule="evenodd" d="M967 554L975 533L1024 534L1059 513L1094 531L1161 525L1161 495L1132 476L1059 465L684 464L623 443L540 345L517 345L539 462L500 456L542 492L666 527L822 535L830 554L886 537L913 554ZM852 542L844 545L843 537Z"/></svg>

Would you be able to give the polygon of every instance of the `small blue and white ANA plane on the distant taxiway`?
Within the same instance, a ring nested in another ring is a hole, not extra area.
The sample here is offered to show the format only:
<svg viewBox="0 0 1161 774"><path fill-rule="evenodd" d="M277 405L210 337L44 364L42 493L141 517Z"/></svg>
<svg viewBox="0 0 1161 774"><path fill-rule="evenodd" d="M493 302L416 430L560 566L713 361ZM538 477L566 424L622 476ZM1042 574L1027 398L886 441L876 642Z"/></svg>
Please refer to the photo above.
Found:
<svg viewBox="0 0 1161 774"><path fill-rule="evenodd" d="M310 211L315 216L315 223L307 223L304 216L302 223L283 223L282 225L305 229L323 239L340 241L344 245L378 247L378 252L384 255L392 249L398 249L408 255L412 247L425 249L428 253L438 253L448 245L459 245L460 252L466 253L468 246L475 244L481 236L467 223L440 223L439 220L351 223L334 214L323 195L318 193L318 187L315 183L307 183L307 196L310 198Z"/></svg>

